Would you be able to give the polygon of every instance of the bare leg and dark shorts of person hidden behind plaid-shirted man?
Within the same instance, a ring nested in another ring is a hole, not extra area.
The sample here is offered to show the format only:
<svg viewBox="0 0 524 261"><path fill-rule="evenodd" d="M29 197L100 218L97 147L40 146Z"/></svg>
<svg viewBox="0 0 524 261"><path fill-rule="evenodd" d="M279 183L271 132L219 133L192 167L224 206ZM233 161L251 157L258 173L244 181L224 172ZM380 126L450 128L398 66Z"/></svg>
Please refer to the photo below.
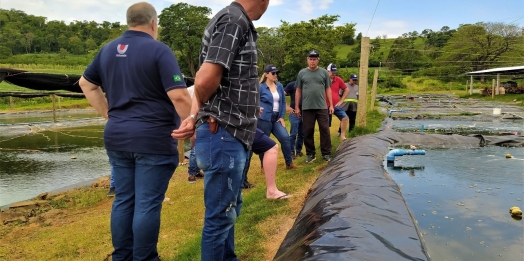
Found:
<svg viewBox="0 0 524 261"><path fill-rule="evenodd" d="M263 171L266 178L266 198L267 199L287 199L292 197L277 188L276 173L277 173L277 157L278 145L275 141L270 139L262 130L257 129L255 140L253 141L252 152L255 154L264 154ZM253 155L250 153L250 155ZM244 178L247 178L247 172L251 162L251 156L248 157L246 167L244 168ZM246 181L246 180L244 180ZM254 185L252 185L254 186ZM244 188L246 185L244 183Z"/></svg>

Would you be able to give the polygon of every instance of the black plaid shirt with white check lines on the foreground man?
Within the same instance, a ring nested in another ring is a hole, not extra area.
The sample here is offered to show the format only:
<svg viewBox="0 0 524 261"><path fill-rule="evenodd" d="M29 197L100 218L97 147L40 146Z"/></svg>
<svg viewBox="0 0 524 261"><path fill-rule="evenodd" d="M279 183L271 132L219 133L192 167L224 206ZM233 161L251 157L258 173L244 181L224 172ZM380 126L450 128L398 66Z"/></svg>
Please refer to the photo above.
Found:
<svg viewBox="0 0 524 261"><path fill-rule="evenodd" d="M224 66L220 87L198 112L197 126L209 116L248 149L255 137L259 110L257 32L237 2L218 12L202 37L200 65Z"/></svg>

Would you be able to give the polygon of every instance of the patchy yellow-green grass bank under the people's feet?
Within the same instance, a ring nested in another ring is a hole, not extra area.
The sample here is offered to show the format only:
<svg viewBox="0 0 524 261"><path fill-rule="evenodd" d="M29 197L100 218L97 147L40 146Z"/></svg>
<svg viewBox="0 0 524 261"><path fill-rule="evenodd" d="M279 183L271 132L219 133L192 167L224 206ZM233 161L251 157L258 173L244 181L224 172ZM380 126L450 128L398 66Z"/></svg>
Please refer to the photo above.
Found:
<svg viewBox="0 0 524 261"><path fill-rule="evenodd" d="M376 132L383 115L368 114L366 128L356 128L350 136ZM331 127L333 151L339 144L336 137L338 120ZM316 132L318 144L318 131ZM327 165L321 159L305 164L305 157L295 161L302 166L285 170L279 153L277 185L293 194L287 200L267 200L265 180L256 156L249 179L255 188L244 190L244 205L236 225L236 251L241 260L272 260L281 241L301 210L309 188ZM52 201L46 209L54 213L40 214L29 224L0 227L0 259L2 260L104 260L112 251L109 216L112 199L105 189L79 189ZM163 204L159 253L162 260L200 260L200 239L203 226L203 184L187 182L187 166L177 168ZM44 212L44 211L42 211Z"/></svg>

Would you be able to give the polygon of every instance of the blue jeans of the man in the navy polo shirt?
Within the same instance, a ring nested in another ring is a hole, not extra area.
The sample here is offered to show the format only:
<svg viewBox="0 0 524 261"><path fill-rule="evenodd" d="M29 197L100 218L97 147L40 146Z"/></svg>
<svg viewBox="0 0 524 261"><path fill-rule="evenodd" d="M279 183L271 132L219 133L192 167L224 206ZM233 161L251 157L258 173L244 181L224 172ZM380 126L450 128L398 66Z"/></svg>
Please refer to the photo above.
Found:
<svg viewBox="0 0 524 261"><path fill-rule="evenodd" d="M157 260L160 211L178 157L111 150L107 156L116 184L112 260Z"/></svg>

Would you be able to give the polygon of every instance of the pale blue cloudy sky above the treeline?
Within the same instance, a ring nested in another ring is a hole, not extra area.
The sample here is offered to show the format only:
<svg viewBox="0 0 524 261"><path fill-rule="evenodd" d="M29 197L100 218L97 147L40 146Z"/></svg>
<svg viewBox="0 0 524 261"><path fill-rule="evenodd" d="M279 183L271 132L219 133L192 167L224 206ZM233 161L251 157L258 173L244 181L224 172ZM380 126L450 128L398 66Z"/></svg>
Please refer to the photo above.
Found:
<svg viewBox="0 0 524 261"><path fill-rule="evenodd" d="M207 6L213 14L232 0L149 0L160 14L179 2ZM136 0L140 2L140 0ZM129 0L0 0L1 9L17 9L48 21L120 22L134 1ZM376 11L375 11L376 10ZM460 24L503 22L524 27L524 0L270 0L256 27L278 27L308 21L324 14L339 15L336 25L356 23L356 34L395 38L424 29L456 29Z"/></svg>

